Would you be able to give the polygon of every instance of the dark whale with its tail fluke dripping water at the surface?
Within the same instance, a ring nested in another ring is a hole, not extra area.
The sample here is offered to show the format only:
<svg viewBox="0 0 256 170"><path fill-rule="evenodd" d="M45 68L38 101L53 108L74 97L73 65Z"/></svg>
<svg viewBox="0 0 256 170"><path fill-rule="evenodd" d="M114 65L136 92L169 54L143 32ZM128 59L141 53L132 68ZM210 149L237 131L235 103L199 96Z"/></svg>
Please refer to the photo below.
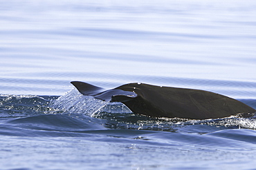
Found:
<svg viewBox="0 0 256 170"><path fill-rule="evenodd" d="M104 89L71 81L85 96L126 105L134 114L158 118L210 119L229 116L251 117L256 110L239 100L201 89L128 83Z"/></svg>

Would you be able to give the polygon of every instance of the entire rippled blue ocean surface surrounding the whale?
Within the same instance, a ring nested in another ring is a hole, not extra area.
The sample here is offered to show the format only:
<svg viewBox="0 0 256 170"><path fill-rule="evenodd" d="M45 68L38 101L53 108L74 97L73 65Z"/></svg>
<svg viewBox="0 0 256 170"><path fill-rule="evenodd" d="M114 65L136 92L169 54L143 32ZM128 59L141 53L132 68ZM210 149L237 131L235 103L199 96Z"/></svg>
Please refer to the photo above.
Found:
<svg viewBox="0 0 256 170"><path fill-rule="evenodd" d="M255 169L255 118L140 116L70 83L204 89L256 109L255 8L0 0L0 169Z"/></svg>

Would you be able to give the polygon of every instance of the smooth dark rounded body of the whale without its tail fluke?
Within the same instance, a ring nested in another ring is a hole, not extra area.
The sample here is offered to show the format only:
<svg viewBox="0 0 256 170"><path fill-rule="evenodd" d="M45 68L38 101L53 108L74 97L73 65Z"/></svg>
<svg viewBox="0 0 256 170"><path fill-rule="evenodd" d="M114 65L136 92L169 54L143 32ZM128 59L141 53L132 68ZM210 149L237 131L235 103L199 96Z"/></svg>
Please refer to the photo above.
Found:
<svg viewBox="0 0 256 170"><path fill-rule="evenodd" d="M206 119L255 113L255 109L238 100L199 89L159 87L144 83L130 83L116 89L135 92L138 95L134 100L123 102L136 114Z"/></svg>

